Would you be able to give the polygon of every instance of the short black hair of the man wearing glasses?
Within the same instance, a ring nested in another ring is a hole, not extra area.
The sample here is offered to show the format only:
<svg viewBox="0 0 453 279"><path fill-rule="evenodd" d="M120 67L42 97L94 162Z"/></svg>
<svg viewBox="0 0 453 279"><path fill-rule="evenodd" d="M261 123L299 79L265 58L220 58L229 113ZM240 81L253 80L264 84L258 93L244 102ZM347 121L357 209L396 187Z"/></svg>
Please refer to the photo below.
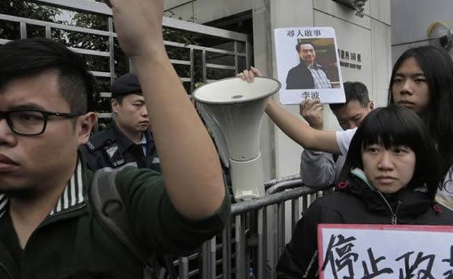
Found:
<svg viewBox="0 0 453 279"><path fill-rule="evenodd" d="M0 46L0 89L8 82L55 70L61 96L71 112L93 110L95 79L81 56L48 38L13 40Z"/></svg>

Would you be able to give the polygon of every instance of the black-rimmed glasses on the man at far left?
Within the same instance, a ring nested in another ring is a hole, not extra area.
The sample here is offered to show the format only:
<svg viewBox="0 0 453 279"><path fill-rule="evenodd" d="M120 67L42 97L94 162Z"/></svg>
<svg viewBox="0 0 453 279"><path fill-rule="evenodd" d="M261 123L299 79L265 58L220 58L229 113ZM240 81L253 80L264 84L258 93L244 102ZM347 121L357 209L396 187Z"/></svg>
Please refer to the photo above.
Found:
<svg viewBox="0 0 453 279"><path fill-rule="evenodd" d="M74 118L84 113L47 112L45 110L20 109L0 112L0 120L6 119L10 129L17 135L40 135L44 133L49 116Z"/></svg>

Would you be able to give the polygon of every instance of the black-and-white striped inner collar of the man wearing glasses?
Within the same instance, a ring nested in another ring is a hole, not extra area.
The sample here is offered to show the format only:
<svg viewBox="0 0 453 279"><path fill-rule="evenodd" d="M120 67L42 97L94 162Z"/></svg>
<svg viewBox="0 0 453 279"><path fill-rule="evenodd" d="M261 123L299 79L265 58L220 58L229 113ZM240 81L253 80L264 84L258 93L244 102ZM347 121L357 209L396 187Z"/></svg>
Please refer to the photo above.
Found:
<svg viewBox="0 0 453 279"><path fill-rule="evenodd" d="M83 204L86 200L84 196L84 180L82 177L82 162L80 158L77 160L75 171L66 184L63 194L59 198L55 208L50 211L49 216L54 216L56 213L70 209L72 206ZM0 195L0 218L3 217L8 210L9 199L6 194Z"/></svg>

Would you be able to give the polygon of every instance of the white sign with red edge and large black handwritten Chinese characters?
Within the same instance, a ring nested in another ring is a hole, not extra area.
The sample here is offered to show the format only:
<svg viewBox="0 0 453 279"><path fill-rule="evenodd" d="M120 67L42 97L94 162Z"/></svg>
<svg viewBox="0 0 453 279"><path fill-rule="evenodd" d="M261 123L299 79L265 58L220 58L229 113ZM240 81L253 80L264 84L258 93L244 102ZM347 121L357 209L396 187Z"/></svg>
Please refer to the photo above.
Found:
<svg viewBox="0 0 453 279"><path fill-rule="evenodd" d="M319 278L453 278L453 227L318 225Z"/></svg>

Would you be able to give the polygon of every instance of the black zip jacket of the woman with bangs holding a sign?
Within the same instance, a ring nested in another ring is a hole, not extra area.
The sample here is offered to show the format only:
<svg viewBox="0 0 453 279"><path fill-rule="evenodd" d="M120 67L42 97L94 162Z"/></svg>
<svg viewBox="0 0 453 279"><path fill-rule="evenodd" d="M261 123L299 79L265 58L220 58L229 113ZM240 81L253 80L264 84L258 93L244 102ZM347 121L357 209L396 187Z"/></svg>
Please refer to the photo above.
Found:
<svg viewBox="0 0 453 279"><path fill-rule="evenodd" d="M303 213L277 265L277 278L318 278L317 226L327 224L453 225L453 211L428 193L404 188L392 195L351 176Z"/></svg>

